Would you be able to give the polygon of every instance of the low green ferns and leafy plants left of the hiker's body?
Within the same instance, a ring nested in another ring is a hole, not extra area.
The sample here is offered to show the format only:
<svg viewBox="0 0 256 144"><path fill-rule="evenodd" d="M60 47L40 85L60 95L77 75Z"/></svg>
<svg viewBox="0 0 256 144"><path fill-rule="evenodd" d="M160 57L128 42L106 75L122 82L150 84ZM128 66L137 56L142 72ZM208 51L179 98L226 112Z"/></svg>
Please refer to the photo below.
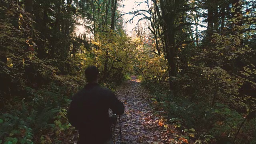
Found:
<svg viewBox="0 0 256 144"><path fill-rule="evenodd" d="M59 83L60 86L50 83L37 91L26 88L31 99L22 100L22 104L12 107L14 110L10 110L10 113L0 115L0 137L5 138L3 142L14 143L18 140L29 144L38 142L39 138L44 144L64 141L66 138L62 136L74 131L66 118L65 108L70 103L69 98L82 86L71 87L75 78L74 81L71 77L68 79L69 83Z"/></svg>

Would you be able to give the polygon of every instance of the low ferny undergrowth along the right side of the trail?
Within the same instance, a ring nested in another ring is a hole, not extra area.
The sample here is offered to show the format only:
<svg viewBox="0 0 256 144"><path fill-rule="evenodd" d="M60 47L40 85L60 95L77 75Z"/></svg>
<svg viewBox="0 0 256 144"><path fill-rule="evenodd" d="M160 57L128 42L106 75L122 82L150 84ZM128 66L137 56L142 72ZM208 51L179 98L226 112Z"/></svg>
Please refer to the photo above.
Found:
<svg viewBox="0 0 256 144"><path fill-rule="evenodd" d="M175 96L168 90L168 84L142 83L152 92L151 100L156 115L163 117L159 124L172 134L173 142L232 144L245 119L245 114L225 104L210 106L204 101L192 102L186 97ZM256 143L255 126L255 118L246 121L235 144Z"/></svg>

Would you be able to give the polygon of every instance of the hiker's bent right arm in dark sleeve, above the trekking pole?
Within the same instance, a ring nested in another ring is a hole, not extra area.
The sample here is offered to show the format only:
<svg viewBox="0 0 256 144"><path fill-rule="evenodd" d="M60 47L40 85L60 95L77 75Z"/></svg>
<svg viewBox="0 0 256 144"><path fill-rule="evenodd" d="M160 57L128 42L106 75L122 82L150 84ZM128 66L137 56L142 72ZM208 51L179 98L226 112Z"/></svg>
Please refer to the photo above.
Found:
<svg viewBox="0 0 256 144"><path fill-rule="evenodd" d="M112 109L113 114L116 114L118 116L124 114L124 104L118 100L115 94L112 92L110 93L110 109Z"/></svg>

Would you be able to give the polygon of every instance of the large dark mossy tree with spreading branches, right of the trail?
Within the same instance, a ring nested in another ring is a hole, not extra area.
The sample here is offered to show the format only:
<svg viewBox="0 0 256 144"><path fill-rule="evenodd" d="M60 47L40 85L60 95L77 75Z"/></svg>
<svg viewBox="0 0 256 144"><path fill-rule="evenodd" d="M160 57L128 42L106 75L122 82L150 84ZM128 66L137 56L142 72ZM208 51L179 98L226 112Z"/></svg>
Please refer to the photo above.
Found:
<svg viewBox="0 0 256 144"><path fill-rule="evenodd" d="M150 21L149 29L154 34L158 54L161 52L159 44L162 43L163 45L162 51L169 67L170 90L175 90L176 84L174 84L173 78L178 74L178 49L182 44L196 41L193 38L194 30L191 30L191 26L200 25L195 20L188 21L186 13L196 12L198 7L195 3L186 0L152 0L152 3L145 2L148 5L148 10L134 11L134 15L142 15L144 16L142 19ZM153 6L150 6L150 4Z"/></svg>

